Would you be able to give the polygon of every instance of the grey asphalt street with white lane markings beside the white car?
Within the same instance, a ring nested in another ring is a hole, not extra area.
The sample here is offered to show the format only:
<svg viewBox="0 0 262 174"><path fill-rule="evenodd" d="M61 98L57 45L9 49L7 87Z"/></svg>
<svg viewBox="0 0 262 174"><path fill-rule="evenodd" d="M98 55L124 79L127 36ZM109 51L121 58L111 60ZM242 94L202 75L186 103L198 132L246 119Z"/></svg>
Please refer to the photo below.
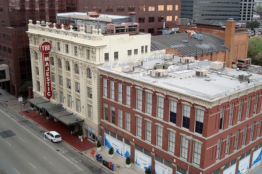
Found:
<svg viewBox="0 0 262 174"><path fill-rule="evenodd" d="M0 102L0 174L109 173ZM62 137L63 138L63 137Z"/></svg>

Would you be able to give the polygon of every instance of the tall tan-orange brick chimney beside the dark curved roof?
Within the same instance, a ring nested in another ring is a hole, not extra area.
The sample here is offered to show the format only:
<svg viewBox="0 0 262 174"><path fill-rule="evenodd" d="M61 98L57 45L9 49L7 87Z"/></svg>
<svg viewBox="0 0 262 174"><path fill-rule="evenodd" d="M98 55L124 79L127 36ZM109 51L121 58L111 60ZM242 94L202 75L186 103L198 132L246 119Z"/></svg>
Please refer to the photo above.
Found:
<svg viewBox="0 0 262 174"><path fill-rule="evenodd" d="M228 59L226 60L226 66L231 68L232 59L234 55L234 44L235 44L235 21L233 18L229 18L226 21L225 41L224 44L230 48Z"/></svg>

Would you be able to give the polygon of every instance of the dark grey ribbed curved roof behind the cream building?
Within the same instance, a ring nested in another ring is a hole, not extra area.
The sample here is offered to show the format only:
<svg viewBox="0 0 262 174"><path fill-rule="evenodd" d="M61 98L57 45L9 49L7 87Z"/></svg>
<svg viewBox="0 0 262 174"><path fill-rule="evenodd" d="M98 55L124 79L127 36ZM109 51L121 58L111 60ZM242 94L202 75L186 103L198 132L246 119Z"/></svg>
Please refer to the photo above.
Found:
<svg viewBox="0 0 262 174"><path fill-rule="evenodd" d="M174 35L151 36L151 51L174 48L183 56L198 56L211 52L229 50L224 45L224 39L209 33L196 33L203 35L203 40L187 37L187 33Z"/></svg>

